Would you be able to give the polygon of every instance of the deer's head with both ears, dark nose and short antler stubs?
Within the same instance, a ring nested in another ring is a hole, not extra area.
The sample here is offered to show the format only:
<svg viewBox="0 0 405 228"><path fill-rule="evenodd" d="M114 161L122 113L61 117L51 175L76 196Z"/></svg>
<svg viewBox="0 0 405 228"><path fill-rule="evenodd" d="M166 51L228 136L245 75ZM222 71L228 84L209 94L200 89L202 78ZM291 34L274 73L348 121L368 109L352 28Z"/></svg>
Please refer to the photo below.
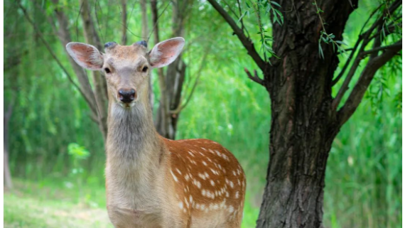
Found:
<svg viewBox="0 0 405 228"><path fill-rule="evenodd" d="M152 68L164 67L178 57L183 38L171 38L148 51L145 41L129 46L109 42L105 53L85 43L68 43L66 49L75 62L87 70L104 72L109 97L122 107L132 107L141 96L148 96L148 77ZM144 99L146 98L144 97Z"/></svg>

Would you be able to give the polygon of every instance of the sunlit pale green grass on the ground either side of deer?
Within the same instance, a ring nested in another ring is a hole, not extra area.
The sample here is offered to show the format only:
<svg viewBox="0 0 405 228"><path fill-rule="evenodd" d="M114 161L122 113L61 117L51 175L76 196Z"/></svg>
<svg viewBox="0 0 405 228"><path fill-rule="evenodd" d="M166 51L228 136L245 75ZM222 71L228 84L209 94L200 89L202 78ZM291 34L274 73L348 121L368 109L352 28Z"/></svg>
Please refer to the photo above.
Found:
<svg viewBox="0 0 405 228"><path fill-rule="evenodd" d="M107 215L102 186L87 186L79 190L71 183L58 180L41 183L21 179L13 181L13 190L4 193L6 228L113 228ZM258 215L259 208L247 203L242 227L254 227Z"/></svg>

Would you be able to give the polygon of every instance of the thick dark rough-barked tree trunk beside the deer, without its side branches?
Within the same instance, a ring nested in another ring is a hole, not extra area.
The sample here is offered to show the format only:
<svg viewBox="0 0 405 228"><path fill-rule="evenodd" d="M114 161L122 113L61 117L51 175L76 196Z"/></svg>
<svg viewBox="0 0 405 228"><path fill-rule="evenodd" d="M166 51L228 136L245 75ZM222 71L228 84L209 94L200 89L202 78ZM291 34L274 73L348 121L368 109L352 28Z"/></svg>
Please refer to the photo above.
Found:
<svg viewBox="0 0 405 228"><path fill-rule="evenodd" d="M271 97L270 162L257 227L323 227L325 168L336 123L331 96L338 57L331 45L318 54L322 24L312 1L280 1L284 25L274 24L274 50L280 60L264 70ZM294 6L293 6L294 4ZM352 2L357 7L357 1ZM319 6L328 33L342 40L349 1Z"/></svg>

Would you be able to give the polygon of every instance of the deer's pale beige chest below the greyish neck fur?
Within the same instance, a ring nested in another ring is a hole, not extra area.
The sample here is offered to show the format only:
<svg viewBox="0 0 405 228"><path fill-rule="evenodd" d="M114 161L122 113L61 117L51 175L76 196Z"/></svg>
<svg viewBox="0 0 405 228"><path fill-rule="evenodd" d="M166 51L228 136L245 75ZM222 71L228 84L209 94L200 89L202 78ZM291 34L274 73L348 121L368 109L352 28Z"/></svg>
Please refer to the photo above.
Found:
<svg viewBox="0 0 405 228"><path fill-rule="evenodd" d="M159 227L161 200L153 173L121 164L106 168L107 210L116 227Z"/></svg>

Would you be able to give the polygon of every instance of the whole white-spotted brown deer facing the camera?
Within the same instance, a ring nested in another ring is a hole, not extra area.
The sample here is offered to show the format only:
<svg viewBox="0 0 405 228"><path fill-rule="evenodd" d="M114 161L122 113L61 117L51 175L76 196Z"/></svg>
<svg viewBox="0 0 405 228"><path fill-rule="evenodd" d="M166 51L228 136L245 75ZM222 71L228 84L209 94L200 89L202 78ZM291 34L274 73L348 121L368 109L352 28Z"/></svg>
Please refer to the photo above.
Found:
<svg viewBox="0 0 405 228"><path fill-rule="evenodd" d="M173 63L185 44L171 38L148 50L109 42L68 43L69 55L107 81L107 212L114 227L240 227L246 191L234 155L208 139L173 141L153 125L148 78Z"/></svg>

